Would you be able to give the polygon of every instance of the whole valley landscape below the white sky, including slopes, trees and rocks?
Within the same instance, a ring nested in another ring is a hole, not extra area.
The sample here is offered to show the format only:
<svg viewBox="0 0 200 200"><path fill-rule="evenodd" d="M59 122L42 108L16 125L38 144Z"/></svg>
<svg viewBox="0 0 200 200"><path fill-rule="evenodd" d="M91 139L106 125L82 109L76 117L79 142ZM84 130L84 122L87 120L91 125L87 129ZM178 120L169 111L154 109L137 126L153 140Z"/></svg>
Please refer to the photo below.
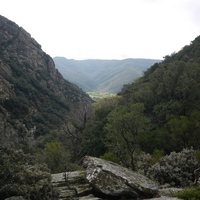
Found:
<svg viewBox="0 0 200 200"><path fill-rule="evenodd" d="M200 199L200 36L163 61L81 61L3 16L0 30L0 199Z"/></svg>

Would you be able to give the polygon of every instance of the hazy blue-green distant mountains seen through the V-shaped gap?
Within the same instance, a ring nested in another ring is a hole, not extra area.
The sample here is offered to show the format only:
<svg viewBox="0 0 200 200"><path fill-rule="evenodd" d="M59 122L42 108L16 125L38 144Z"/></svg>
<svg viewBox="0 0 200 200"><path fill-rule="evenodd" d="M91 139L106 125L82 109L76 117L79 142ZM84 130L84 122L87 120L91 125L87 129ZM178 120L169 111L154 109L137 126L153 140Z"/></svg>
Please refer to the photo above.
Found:
<svg viewBox="0 0 200 200"><path fill-rule="evenodd" d="M123 85L141 77L143 72L160 60L73 60L53 58L63 77L77 84L85 92L118 93Z"/></svg>

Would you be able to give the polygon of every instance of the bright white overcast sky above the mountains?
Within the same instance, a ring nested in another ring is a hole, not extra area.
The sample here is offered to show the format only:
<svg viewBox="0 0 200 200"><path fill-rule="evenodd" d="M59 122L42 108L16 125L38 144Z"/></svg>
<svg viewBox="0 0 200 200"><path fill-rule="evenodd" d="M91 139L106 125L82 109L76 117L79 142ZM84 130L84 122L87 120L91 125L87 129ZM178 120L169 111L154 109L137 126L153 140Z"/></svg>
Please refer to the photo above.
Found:
<svg viewBox="0 0 200 200"><path fill-rule="evenodd" d="M162 59L200 35L200 0L0 0L51 57Z"/></svg>

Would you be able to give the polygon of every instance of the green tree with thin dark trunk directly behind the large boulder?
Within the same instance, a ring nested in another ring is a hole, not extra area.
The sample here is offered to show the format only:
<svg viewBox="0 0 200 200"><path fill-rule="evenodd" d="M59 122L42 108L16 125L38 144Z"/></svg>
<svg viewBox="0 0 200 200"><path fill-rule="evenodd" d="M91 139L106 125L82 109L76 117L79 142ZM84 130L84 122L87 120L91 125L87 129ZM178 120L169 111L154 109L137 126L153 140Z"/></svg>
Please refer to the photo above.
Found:
<svg viewBox="0 0 200 200"><path fill-rule="evenodd" d="M119 106L108 116L105 144L128 168L135 170L134 151L139 148L138 135L149 127L142 103Z"/></svg>

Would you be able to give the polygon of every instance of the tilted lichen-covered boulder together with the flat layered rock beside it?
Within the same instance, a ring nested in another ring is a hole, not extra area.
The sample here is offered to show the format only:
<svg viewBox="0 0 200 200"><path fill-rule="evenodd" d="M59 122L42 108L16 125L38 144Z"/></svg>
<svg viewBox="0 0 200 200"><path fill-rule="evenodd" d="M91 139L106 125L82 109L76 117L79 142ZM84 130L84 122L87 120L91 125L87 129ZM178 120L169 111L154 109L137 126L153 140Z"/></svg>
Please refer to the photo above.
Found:
<svg viewBox="0 0 200 200"><path fill-rule="evenodd" d="M149 198L158 193L158 185L127 168L95 157L85 157L84 171L52 175L60 190L60 199L122 199Z"/></svg>

